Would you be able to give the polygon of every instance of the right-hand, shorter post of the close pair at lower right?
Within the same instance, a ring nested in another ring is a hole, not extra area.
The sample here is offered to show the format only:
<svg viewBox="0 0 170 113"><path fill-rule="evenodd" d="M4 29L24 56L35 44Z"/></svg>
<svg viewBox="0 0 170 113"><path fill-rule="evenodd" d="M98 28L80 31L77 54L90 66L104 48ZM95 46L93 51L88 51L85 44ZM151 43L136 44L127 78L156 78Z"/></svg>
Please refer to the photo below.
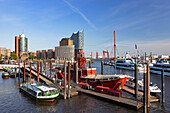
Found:
<svg viewBox="0 0 170 113"><path fill-rule="evenodd" d="M147 107L150 107L150 90L149 90L149 86L150 86L150 67L149 64L147 65L147 78L146 78L146 97L147 97Z"/></svg>

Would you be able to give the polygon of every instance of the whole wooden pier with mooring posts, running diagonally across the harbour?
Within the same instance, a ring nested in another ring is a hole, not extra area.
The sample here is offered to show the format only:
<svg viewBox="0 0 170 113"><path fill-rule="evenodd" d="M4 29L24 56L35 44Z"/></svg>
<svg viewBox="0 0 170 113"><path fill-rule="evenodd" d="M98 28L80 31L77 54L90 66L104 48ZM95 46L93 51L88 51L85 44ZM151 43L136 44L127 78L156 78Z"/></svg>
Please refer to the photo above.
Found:
<svg viewBox="0 0 170 113"><path fill-rule="evenodd" d="M32 68L31 62L29 62L30 65L26 65L26 62L24 62L23 63L24 65L22 67L20 66L20 63L19 63L18 67L13 67L13 68L19 68L19 67L21 68L21 70L23 72L23 81L25 81L25 77L26 77L25 73L27 72L27 73L29 73L29 74L27 74L27 76L30 77L30 78L34 77L37 80L37 82L41 82L41 83L44 83L44 84L46 84L50 87L55 87L55 88L59 89L59 92L60 92L60 95L61 95L60 97L63 98L63 99L69 99L70 97L74 97L76 95L85 93L85 94L90 95L92 97L104 99L104 100L106 100L106 101L108 101L112 104L131 108L131 109L134 109L134 110L139 110L140 108L144 107L144 102L146 100L145 100L145 97L144 97L144 93L141 92L141 91L138 91L137 97L135 97L134 96L134 95L136 95L135 89L124 86L123 89L122 89L122 91L123 91L122 96L116 97L116 96L104 94L104 93L101 93L101 92L95 92L93 89L81 88L80 85L76 84L77 82L75 82L75 81L73 82L73 80L69 79L71 66L70 66L70 63L68 63L68 65L66 65L66 62L64 64L64 75L63 76L64 76L64 78L67 78L67 77L68 78L64 79L64 81L63 81L64 85L59 85L59 84L56 83L56 81L58 79L52 77L52 70L53 71L56 71L56 70L52 69L52 62L51 61L49 62L50 66L49 66L49 69L48 69L50 71L49 76L42 73L43 72L42 63L40 61L35 61L35 62L37 62L37 69ZM39 66L39 63L41 64L40 66ZM76 65L73 66L73 69L77 70L77 68L78 68L78 66L76 66ZM101 62L101 68L102 68L101 72L103 73L104 72L104 62L103 61ZM45 68L45 71L46 70L47 69ZM66 75L66 73L68 73L68 74ZM59 80L59 81L61 82L62 80ZM66 87L67 84L68 84L69 88ZM71 86L71 88L70 88L70 86ZM127 96L124 93L132 94L133 96ZM158 102L158 101L160 101L159 98L157 98L156 96L150 95L149 102Z"/></svg>

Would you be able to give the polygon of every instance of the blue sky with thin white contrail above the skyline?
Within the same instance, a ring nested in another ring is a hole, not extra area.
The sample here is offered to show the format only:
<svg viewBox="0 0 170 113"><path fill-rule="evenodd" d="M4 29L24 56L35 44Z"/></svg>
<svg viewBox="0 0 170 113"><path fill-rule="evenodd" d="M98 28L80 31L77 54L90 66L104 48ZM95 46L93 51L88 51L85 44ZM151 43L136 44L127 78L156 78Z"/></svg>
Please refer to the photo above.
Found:
<svg viewBox="0 0 170 113"><path fill-rule="evenodd" d="M0 0L0 47L15 50L24 33L28 50L54 49L62 38L84 30L88 57L108 50L170 55L169 0Z"/></svg>

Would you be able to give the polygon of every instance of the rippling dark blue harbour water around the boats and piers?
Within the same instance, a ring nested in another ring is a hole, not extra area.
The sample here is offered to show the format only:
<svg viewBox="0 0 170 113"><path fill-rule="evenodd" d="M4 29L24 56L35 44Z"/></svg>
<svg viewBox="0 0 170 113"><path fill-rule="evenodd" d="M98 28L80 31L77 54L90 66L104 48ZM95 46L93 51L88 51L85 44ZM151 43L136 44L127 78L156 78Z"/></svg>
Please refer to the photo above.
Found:
<svg viewBox="0 0 170 113"><path fill-rule="evenodd" d="M97 68L100 74L101 60L94 60L92 67ZM86 64L88 66L88 64ZM105 72L114 74L114 67L104 66ZM134 75L133 71L117 69L117 73ZM1 72L0 72L1 75ZM143 74L139 73L139 78ZM22 78L21 78L22 81ZM161 79L159 75L151 75L151 81L160 87ZM159 102L151 103L149 112L170 112L170 78L165 77L165 108ZM54 103L35 102L19 91L18 78L2 79L0 76L0 112L1 113L71 113L71 112L93 112L93 113L136 113L143 112L142 109L135 111L129 108L118 106L103 99L95 98L86 94L75 96L70 100L57 99Z"/></svg>

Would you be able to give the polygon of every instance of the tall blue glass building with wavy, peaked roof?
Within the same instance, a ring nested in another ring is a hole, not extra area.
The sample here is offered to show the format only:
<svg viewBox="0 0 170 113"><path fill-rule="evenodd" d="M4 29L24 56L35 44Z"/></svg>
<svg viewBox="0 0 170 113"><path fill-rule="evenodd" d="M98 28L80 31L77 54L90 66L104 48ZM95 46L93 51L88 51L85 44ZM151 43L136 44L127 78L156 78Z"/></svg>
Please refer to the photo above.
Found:
<svg viewBox="0 0 170 113"><path fill-rule="evenodd" d="M71 36L73 40L73 45L75 45L75 50L82 49L84 50L84 30L74 32Z"/></svg>

